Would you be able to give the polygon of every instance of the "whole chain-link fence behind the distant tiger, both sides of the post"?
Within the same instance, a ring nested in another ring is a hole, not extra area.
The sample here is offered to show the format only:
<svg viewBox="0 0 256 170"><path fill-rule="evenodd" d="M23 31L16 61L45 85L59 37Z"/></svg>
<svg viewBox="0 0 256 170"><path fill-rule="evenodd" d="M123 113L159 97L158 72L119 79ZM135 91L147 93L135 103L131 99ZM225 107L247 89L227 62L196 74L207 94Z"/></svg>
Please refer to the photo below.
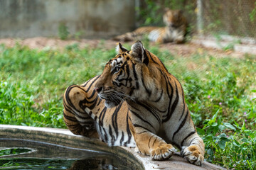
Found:
<svg viewBox="0 0 256 170"><path fill-rule="evenodd" d="M139 26L163 26L164 8L181 9L194 35L256 38L256 0L138 0ZM137 10L138 11L138 10Z"/></svg>

